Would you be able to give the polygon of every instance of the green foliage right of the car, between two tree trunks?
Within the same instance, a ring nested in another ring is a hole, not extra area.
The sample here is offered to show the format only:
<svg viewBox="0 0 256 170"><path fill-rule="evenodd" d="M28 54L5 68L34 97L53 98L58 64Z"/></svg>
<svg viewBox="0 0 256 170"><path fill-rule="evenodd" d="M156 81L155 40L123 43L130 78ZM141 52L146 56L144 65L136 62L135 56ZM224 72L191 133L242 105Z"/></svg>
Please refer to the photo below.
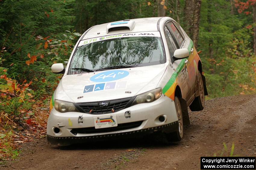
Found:
<svg viewBox="0 0 256 170"><path fill-rule="evenodd" d="M198 50L202 50L208 99L255 93L253 30L248 18L231 14L229 1L202 1Z"/></svg>

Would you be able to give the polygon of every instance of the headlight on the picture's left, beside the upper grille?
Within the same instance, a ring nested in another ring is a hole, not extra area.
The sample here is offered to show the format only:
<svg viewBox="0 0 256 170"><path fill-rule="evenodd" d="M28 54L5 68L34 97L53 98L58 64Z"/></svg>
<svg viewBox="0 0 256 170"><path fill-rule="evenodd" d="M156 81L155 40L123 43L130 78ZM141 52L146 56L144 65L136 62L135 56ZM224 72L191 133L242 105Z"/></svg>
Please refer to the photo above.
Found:
<svg viewBox="0 0 256 170"><path fill-rule="evenodd" d="M64 102L61 100L54 100L54 108L61 113L64 112L79 112L76 106L71 102Z"/></svg>

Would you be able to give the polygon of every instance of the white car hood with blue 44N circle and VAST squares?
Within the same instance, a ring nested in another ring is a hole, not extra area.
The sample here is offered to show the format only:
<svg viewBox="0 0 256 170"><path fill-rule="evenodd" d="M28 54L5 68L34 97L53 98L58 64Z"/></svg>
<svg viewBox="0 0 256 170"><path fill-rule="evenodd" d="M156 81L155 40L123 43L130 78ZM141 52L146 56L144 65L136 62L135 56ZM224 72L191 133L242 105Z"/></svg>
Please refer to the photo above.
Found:
<svg viewBox="0 0 256 170"><path fill-rule="evenodd" d="M153 90L166 64L66 75L55 91L55 99L74 103L133 97Z"/></svg>

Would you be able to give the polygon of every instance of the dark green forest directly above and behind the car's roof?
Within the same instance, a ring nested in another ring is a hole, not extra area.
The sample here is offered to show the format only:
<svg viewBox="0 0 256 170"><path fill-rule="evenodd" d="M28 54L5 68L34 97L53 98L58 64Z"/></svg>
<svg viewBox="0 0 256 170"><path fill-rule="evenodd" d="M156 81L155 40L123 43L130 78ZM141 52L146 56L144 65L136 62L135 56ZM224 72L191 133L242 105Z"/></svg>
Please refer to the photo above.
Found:
<svg viewBox="0 0 256 170"><path fill-rule="evenodd" d="M74 3L74 26L83 33L94 25L123 19L158 16L155 0L86 0Z"/></svg>

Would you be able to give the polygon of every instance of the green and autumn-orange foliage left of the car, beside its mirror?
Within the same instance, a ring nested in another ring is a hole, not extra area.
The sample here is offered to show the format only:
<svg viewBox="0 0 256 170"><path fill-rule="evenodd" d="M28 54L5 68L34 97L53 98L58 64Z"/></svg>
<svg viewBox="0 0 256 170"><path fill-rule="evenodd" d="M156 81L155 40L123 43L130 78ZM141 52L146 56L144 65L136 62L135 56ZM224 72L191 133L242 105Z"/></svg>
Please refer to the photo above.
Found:
<svg viewBox="0 0 256 170"><path fill-rule="evenodd" d="M69 31L73 2L0 1L0 125L28 118L57 86L50 67L69 58L81 35Z"/></svg>

